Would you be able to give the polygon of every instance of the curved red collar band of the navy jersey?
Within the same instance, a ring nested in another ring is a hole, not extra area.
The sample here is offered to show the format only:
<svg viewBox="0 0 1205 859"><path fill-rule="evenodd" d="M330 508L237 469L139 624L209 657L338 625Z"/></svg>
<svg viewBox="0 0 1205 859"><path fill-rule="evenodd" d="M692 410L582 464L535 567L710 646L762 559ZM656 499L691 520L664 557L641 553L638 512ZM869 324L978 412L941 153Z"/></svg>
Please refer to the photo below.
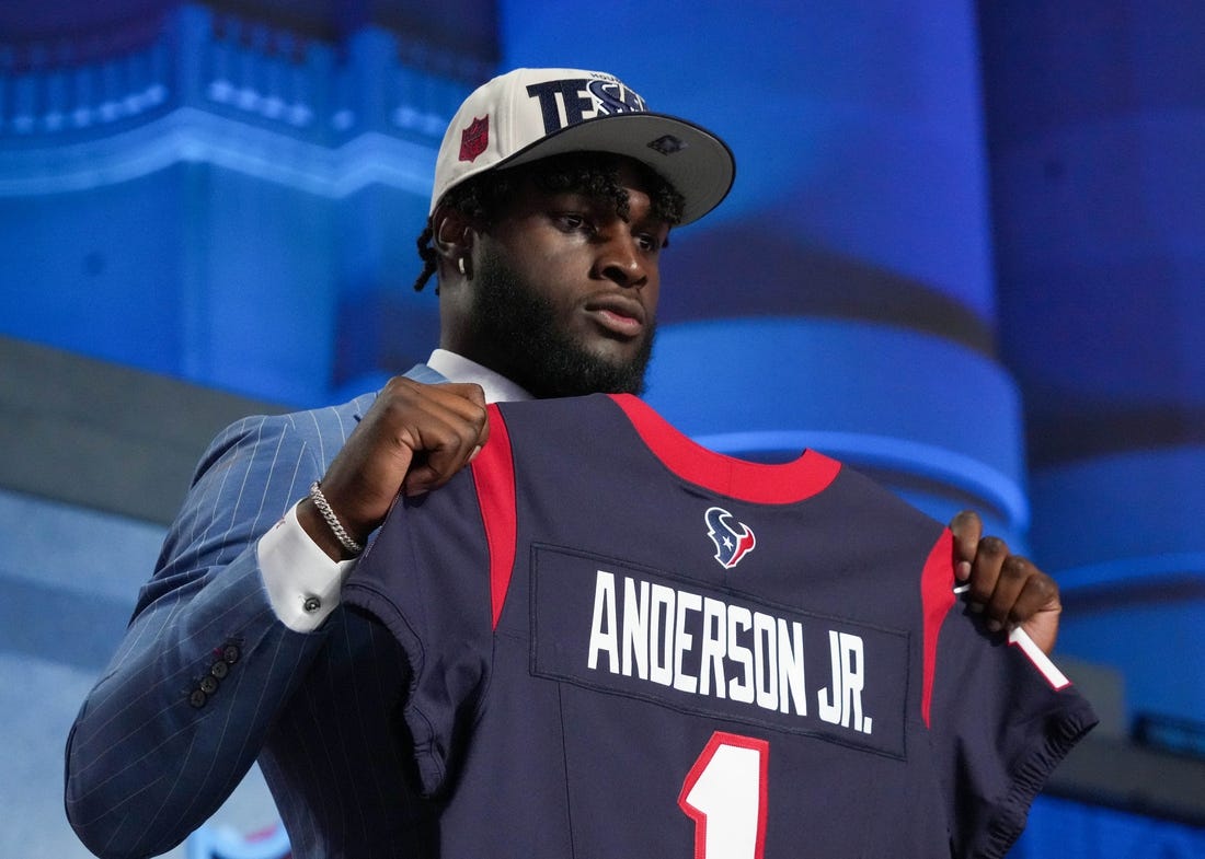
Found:
<svg viewBox="0 0 1205 859"><path fill-rule="evenodd" d="M840 462L813 450L782 464L724 456L692 442L642 399L630 393L610 396L666 468L729 498L754 504L793 504L823 492L841 470Z"/></svg>

